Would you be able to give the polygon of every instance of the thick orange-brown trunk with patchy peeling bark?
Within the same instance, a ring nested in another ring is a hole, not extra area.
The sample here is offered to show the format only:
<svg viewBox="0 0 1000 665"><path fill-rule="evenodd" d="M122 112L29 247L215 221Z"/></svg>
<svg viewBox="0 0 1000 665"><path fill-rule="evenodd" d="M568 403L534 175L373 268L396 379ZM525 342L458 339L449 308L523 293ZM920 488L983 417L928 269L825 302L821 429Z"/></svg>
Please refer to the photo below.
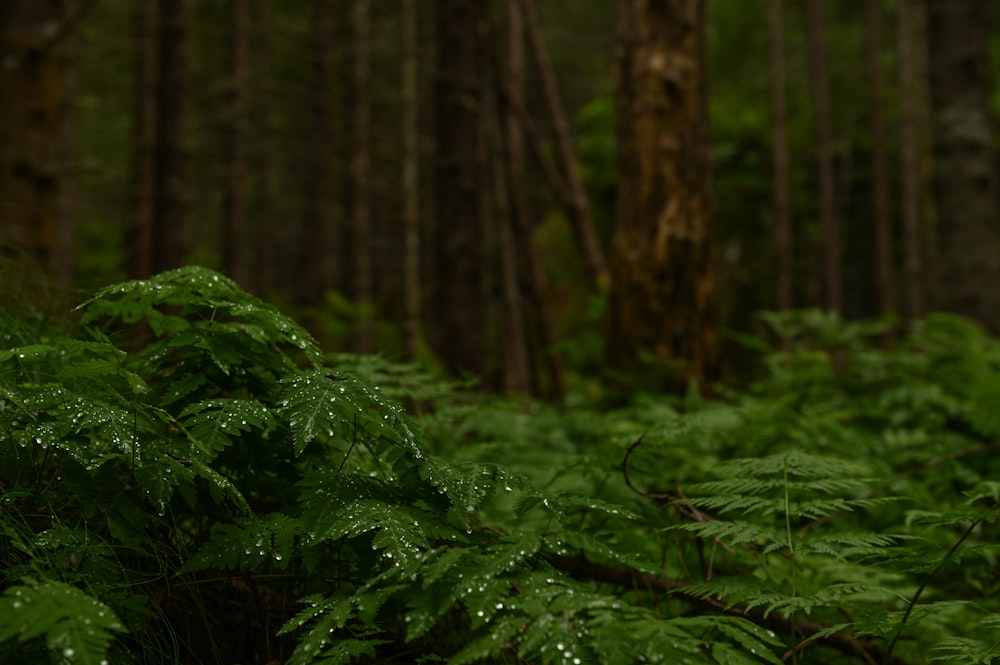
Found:
<svg viewBox="0 0 1000 665"><path fill-rule="evenodd" d="M618 220L608 364L640 351L678 379L715 375L708 206L705 2L618 2Z"/></svg>

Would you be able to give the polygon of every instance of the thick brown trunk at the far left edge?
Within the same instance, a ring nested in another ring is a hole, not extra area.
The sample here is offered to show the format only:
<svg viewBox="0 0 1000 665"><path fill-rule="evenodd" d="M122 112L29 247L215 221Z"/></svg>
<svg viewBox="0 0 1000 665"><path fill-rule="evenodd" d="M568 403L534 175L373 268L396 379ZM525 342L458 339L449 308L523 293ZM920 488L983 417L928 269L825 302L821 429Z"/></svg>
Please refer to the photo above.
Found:
<svg viewBox="0 0 1000 665"><path fill-rule="evenodd" d="M0 249L55 281L61 262L68 31L75 3L0 3Z"/></svg>

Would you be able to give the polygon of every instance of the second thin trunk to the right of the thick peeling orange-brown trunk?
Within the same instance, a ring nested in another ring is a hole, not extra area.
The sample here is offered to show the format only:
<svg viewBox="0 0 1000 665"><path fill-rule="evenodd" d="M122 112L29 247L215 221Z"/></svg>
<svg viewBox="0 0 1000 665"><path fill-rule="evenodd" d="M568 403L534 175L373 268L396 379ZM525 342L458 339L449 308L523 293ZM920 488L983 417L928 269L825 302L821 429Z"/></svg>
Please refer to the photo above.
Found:
<svg viewBox="0 0 1000 665"><path fill-rule="evenodd" d="M843 309L840 274L840 226L837 221L833 168L833 133L830 126L830 84L827 76L826 36L821 0L808 0L809 61L816 114L816 161L819 182L819 218L823 228L823 282L826 308Z"/></svg>

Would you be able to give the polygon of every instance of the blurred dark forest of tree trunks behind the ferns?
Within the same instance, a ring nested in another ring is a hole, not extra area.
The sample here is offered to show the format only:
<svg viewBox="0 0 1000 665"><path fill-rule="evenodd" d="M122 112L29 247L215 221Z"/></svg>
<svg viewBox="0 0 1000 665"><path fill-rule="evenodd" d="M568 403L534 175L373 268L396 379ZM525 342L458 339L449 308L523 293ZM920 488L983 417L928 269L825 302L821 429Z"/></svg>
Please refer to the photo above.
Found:
<svg viewBox="0 0 1000 665"><path fill-rule="evenodd" d="M992 5L9 0L5 282L200 263L541 395L762 309L996 330Z"/></svg>

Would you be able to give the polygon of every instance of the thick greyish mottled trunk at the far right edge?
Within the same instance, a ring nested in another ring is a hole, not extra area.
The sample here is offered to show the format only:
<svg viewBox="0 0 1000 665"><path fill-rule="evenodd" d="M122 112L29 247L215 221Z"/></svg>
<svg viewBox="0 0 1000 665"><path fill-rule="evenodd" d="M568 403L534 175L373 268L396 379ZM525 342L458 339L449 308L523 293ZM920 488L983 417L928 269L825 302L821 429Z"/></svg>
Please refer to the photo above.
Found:
<svg viewBox="0 0 1000 665"><path fill-rule="evenodd" d="M929 2L941 302L1000 332L1000 228L987 3Z"/></svg>

